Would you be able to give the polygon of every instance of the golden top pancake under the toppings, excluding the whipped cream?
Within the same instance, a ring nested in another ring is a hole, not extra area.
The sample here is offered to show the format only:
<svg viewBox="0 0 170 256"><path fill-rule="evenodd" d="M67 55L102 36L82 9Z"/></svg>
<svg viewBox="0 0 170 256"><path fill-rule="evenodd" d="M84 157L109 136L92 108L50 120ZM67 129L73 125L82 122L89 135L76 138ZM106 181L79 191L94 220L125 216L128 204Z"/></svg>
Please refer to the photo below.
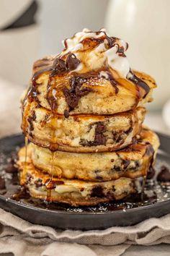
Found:
<svg viewBox="0 0 170 256"><path fill-rule="evenodd" d="M39 63L39 61L38 61ZM42 60L43 63L43 60ZM35 63L36 64L36 63ZM49 77L50 72L42 72L39 74L33 85L31 83L30 88L25 95L26 98L36 100L40 106L55 112L56 114L116 114L125 111L130 111L137 106L143 106L144 103L152 101L153 88L156 87L156 82L148 74L143 72L134 72L138 74L138 77L143 78L143 81L148 85L149 93L146 95L142 92L142 89L133 84L127 79L117 78L117 90L113 88L111 82L102 78L99 78L99 73L89 74L89 78L82 83L81 90L88 91L88 94L77 98L74 93L71 94L69 100L68 95L64 95L64 89L69 92L72 90L71 81L76 77L76 80L83 80L82 77L86 77L87 74L72 74L71 77L53 77L55 88L51 89L56 91L55 96L51 91L49 92ZM92 77L92 78L91 78ZM71 102L73 101L73 102ZM75 106L74 108L71 106Z"/></svg>

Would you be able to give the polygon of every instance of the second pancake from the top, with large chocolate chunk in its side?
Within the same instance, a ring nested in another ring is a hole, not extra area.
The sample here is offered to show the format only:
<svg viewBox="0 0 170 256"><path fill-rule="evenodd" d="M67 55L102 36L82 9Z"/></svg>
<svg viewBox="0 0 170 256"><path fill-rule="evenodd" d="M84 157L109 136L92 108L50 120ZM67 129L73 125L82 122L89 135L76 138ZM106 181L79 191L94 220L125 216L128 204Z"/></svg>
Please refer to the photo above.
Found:
<svg viewBox="0 0 170 256"><path fill-rule="evenodd" d="M42 108L35 101L23 110L22 130L33 143L50 150L79 153L113 151L132 142L146 114L139 107L109 116L61 116Z"/></svg>

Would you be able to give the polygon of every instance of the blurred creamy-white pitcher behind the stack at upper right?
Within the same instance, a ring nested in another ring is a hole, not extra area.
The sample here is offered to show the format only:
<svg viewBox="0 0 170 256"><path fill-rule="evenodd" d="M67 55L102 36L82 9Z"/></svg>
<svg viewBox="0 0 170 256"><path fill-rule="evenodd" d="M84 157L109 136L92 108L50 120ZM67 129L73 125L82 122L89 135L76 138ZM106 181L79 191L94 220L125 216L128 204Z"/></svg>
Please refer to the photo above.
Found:
<svg viewBox="0 0 170 256"><path fill-rule="evenodd" d="M149 107L161 108L170 99L170 0L110 0L105 27L129 43L130 66L156 79Z"/></svg>

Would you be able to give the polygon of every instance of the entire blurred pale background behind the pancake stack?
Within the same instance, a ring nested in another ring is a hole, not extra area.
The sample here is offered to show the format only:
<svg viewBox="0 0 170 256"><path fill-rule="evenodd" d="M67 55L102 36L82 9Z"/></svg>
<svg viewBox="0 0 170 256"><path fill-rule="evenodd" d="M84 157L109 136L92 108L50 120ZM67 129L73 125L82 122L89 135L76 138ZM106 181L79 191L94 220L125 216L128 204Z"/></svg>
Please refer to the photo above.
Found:
<svg viewBox="0 0 170 256"><path fill-rule="evenodd" d="M1 0L0 90L6 111L0 109L0 121L5 124L10 115L12 132L19 131L19 94L29 82L33 61L57 54L63 48L61 40L84 27L106 27L111 35L128 41L130 66L156 78L158 89L146 123L169 132L169 9L169 0Z"/></svg>

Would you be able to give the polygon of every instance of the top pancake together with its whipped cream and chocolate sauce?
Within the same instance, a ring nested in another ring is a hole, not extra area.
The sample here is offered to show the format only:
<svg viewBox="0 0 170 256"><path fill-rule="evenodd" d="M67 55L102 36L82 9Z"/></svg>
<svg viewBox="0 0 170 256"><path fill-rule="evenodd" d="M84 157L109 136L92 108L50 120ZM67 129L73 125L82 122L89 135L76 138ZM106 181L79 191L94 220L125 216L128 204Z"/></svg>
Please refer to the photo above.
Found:
<svg viewBox="0 0 170 256"><path fill-rule="evenodd" d="M69 40L73 40L71 46L66 42L58 56L35 62L24 101L37 101L68 116L116 114L152 100L156 82L148 74L130 69L122 40L103 31L86 31Z"/></svg>

